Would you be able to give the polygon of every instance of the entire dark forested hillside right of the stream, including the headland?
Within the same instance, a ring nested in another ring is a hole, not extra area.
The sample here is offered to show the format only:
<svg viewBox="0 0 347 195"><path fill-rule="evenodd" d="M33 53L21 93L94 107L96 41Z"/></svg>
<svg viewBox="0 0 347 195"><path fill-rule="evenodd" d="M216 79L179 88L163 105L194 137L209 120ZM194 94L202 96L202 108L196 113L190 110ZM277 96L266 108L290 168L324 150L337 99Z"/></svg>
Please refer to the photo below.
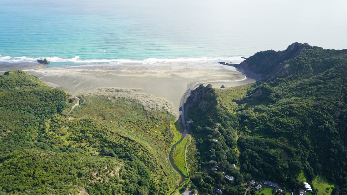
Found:
<svg viewBox="0 0 347 195"><path fill-rule="evenodd" d="M227 160L239 164L244 179L252 175L296 190L303 180L314 188L319 175L346 190L347 50L294 43L237 66L263 79L228 89L200 86L187 108L201 166L210 169L212 158L226 167Z"/></svg>

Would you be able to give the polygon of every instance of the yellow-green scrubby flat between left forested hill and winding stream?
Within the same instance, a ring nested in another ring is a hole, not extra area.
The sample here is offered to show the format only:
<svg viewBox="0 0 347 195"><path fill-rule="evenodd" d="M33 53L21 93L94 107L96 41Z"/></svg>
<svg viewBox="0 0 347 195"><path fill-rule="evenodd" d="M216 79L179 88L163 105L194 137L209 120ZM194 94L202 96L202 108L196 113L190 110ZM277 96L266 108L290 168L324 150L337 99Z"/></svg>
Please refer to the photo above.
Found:
<svg viewBox="0 0 347 195"><path fill-rule="evenodd" d="M126 98L110 100L105 96L85 96L81 106L76 107L71 116L75 120L91 118L95 125L101 125L104 131L90 132L82 140L99 145L111 145L111 149L130 147L130 155L141 159L153 172L151 181L163 185L161 177L167 177L166 188L175 185L175 175L170 169L167 156L171 140L174 138L170 124L175 117L164 111L147 111L141 104ZM78 126L78 125L77 125ZM79 145L78 139L83 136L78 128L71 128L72 134L67 138L70 143ZM102 137L95 138L96 136ZM82 141L81 140L81 141ZM82 141L83 142L83 141ZM85 147L92 150L92 147ZM96 149L95 151L100 151ZM133 152L133 153L132 153Z"/></svg>

